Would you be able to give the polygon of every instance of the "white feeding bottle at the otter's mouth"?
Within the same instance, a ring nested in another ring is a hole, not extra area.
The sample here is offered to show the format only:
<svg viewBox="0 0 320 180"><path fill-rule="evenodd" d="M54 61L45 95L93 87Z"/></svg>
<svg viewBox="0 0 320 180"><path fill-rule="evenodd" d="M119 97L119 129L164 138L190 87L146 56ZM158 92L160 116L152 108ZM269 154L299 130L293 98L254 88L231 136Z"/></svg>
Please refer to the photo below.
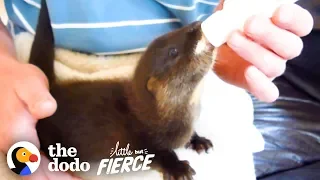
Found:
<svg viewBox="0 0 320 180"><path fill-rule="evenodd" d="M271 18L280 5L295 2L297 0L225 0L223 9L203 21L201 29L207 40L219 47L233 31L242 31L249 17L263 14Z"/></svg>

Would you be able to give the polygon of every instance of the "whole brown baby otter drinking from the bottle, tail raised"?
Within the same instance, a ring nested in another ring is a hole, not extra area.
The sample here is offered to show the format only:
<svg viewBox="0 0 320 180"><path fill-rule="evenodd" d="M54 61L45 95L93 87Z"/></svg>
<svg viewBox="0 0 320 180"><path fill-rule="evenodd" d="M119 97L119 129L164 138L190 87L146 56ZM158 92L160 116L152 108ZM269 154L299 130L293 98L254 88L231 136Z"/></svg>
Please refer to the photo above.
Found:
<svg viewBox="0 0 320 180"><path fill-rule="evenodd" d="M210 140L194 132L199 115L197 98L201 81L211 70L213 47L206 44L200 22L154 40L141 57L132 81L97 80L59 83L54 75L54 38L43 0L30 63L47 76L58 109L40 120L36 129L41 150L61 143L75 147L81 161L109 157L119 141L132 149L155 154L153 168L168 179L192 179L187 161L174 149L188 146L196 151L212 147ZM71 159L59 158L70 162Z"/></svg>

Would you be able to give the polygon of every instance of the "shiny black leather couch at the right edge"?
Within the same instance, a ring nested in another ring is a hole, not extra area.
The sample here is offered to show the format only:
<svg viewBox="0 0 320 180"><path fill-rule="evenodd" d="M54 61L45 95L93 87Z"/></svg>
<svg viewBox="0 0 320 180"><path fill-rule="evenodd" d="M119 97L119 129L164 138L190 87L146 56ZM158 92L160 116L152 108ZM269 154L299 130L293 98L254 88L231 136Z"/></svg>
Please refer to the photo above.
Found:
<svg viewBox="0 0 320 180"><path fill-rule="evenodd" d="M320 180L320 31L303 41L301 56L275 79L279 99L268 104L252 97L266 142L254 154L259 180Z"/></svg>

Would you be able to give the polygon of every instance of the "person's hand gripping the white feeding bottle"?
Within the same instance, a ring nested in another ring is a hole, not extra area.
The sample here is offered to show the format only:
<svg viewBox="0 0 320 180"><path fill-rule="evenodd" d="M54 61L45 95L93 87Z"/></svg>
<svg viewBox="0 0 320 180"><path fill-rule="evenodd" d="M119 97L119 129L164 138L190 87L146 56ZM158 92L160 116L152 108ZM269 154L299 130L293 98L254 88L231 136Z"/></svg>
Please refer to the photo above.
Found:
<svg viewBox="0 0 320 180"><path fill-rule="evenodd" d="M223 2L216 10L223 8ZM273 102L279 91L272 80L283 74L287 60L300 55L300 37L308 35L312 27L311 14L296 4L282 5L272 18L252 16L243 32L235 31L219 47L214 71L259 100Z"/></svg>

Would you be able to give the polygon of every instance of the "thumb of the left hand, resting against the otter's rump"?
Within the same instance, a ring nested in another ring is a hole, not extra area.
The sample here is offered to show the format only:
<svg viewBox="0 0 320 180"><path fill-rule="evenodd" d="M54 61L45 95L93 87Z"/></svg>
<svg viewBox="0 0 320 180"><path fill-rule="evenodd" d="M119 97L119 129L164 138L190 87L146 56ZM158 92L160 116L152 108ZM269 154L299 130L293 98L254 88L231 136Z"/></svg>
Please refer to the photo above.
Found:
<svg viewBox="0 0 320 180"><path fill-rule="evenodd" d="M46 83L37 76L20 80L15 91L35 119L51 116L57 109L57 103L49 93Z"/></svg>

